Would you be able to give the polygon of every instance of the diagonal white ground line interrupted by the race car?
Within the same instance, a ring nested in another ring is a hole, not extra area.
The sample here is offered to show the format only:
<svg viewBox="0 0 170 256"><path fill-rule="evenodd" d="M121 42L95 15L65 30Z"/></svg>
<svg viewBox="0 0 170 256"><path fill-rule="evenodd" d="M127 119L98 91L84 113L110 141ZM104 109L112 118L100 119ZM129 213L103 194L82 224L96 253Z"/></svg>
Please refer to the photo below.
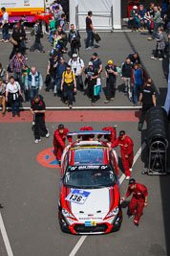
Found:
<svg viewBox="0 0 170 256"><path fill-rule="evenodd" d="M138 157L140 155L140 153L144 150L144 148L146 147L146 143L144 142L141 147L139 148L138 152L136 153L135 157L134 157L134 163L133 166L135 165L135 163L138 160ZM126 175L121 175L119 178L119 183L121 184L124 179L125 179ZM78 242L75 244L74 249L72 250L72 252L69 254L69 256L74 256L76 254L76 252L78 251L78 249L80 248L80 246L84 243L85 239L87 238L87 236L82 236Z"/></svg>

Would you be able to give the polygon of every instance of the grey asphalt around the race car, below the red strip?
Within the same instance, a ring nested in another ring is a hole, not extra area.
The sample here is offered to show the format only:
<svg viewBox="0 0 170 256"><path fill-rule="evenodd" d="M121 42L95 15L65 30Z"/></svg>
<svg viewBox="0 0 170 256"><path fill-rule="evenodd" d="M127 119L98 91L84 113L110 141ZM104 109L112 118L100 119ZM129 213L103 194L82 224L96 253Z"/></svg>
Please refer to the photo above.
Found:
<svg viewBox="0 0 170 256"><path fill-rule="evenodd" d="M71 112L73 117L77 115L76 111ZM64 125L70 130L89 125L100 129L106 126L104 120L108 114L111 112L106 111L103 122L76 123L66 120ZM144 134L137 131L138 123L117 122L113 115L113 122L107 122L107 126L113 126L113 124L117 124L117 131L126 130L135 142L134 151L137 154L144 137ZM58 122L47 123L51 137L43 138L41 143L35 145L31 122L21 120L17 123L14 121L8 124L1 123L0 141L3 150L0 154L0 199L4 205L1 213L14 256L70 255L80 239L80 236L62 233L59 228L57 199L60 170L44 167L36 161L40 151L53 147L53 131L57 125ZM119 155L118 148L117 153ZM128 219L126 215L129 201L127 200L123 205L123 221L120 230L108 235L88 236L76 255L169 255L167 236L169 234L170 189L168 183L170 176L141 175L145 161L146 151L143 151L132 173L133 177L145 184L149 191L148 207L143 211L139 226L136 227L133 220ZM119 161L119 168L119 176L121 176L121 161ZM121 184L121 196L126 192L127 183L124 180ZM2 256L7 255L1 237L0 253Z"/></svg>

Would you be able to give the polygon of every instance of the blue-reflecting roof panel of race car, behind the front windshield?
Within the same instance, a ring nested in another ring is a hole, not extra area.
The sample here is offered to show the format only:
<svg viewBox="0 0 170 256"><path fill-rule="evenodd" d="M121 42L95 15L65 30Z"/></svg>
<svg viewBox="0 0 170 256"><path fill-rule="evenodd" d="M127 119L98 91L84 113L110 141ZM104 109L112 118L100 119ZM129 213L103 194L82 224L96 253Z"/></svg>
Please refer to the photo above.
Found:
<svg viewBox="0 0 170 256"><path fill-rule="evenodd" d="M81 149L74 151L74 166L103 165L103 149Z"/></svg>

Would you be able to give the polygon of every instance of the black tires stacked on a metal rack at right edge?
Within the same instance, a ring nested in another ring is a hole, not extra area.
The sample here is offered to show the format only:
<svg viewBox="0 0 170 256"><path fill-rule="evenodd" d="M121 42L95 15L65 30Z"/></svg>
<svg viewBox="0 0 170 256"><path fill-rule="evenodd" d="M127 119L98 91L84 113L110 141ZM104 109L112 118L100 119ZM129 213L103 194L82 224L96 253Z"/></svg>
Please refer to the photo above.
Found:
<svg viewBox="0 0 170 256"><path fill-rule="evenodd" d="M148 170L167 172L168 116L164 108L151 107L147 115Z"/></svg>

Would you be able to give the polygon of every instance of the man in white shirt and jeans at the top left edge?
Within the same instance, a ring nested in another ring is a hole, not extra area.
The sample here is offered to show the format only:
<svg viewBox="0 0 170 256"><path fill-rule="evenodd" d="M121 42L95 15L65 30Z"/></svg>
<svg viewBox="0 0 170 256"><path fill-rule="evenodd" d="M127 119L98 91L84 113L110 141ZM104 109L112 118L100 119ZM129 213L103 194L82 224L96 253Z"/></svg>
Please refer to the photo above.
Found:
<svg viewBox="0 0 170 256"><path fill-rule="evenodd" d="M2 16L2 35L3 38L0 40L1 42L9 42L10 35L9 35L9 13L6 12L5 7L1 8L1 12L3 12Z"/></svg>

